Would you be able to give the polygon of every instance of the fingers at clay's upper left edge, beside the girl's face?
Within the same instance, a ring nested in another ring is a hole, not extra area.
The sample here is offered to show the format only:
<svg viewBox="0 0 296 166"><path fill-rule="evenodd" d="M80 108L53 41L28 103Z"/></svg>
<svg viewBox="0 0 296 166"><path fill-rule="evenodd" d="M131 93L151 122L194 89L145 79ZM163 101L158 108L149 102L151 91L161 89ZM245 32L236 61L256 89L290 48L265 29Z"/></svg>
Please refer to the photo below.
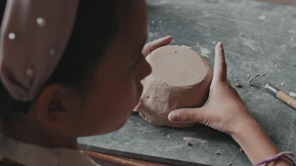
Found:
<svg viewBox="0 0 296 166"><path fill-rule="evenodd" d="M153 42L147 43L142 49L142 54L146 57L149 52L152 52L153 50L161 46L170 44L172 40L173 40L172 36L166 36L158 40L155 40Z"/></svg>

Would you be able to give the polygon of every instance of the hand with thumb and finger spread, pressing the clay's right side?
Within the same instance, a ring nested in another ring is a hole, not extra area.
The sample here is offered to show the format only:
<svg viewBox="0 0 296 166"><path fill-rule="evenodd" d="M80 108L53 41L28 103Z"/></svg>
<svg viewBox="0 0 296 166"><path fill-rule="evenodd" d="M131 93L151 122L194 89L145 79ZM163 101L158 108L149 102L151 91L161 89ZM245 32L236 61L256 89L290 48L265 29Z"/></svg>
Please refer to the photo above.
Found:
<svg viewBox="0 0 296 166"><path fill-rule="evenodd" d="M233 133L241 125L257 123L244 106L237 91L227 79L223 44L215 48L215 66L210 94L200 108L183 108L169 114L172 122L198 122L226 133Z"/></svg>

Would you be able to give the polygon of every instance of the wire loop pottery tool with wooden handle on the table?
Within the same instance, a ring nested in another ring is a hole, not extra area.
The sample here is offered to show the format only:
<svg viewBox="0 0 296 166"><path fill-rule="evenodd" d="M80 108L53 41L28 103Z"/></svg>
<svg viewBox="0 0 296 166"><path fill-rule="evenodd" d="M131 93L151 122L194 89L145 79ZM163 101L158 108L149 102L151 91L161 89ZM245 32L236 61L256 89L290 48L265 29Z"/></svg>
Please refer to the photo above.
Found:
<svg viewBox="0 0 296 166"><path fill-rule="evenodd" d="M292 108L296 109L296 100L295 99L293 99L292 97L290 97L285 92L280 91L277 87L273 86L272 84L266 83L265 80L264 80L264 82L265 82L264 84L265 85L260 85L260 84L254 83L254 80L256 78L261 78L262 80L264 80L260 76L260 74L257 74L255 76L253 76L248 81L248 84L251 85L251 86L256 86L256 87L260 87L260 88L266 89L269 93L271 93L272 95L274 95L275 97L277 97L281 101L285 102L286 104L290 105Z"/></svg>

